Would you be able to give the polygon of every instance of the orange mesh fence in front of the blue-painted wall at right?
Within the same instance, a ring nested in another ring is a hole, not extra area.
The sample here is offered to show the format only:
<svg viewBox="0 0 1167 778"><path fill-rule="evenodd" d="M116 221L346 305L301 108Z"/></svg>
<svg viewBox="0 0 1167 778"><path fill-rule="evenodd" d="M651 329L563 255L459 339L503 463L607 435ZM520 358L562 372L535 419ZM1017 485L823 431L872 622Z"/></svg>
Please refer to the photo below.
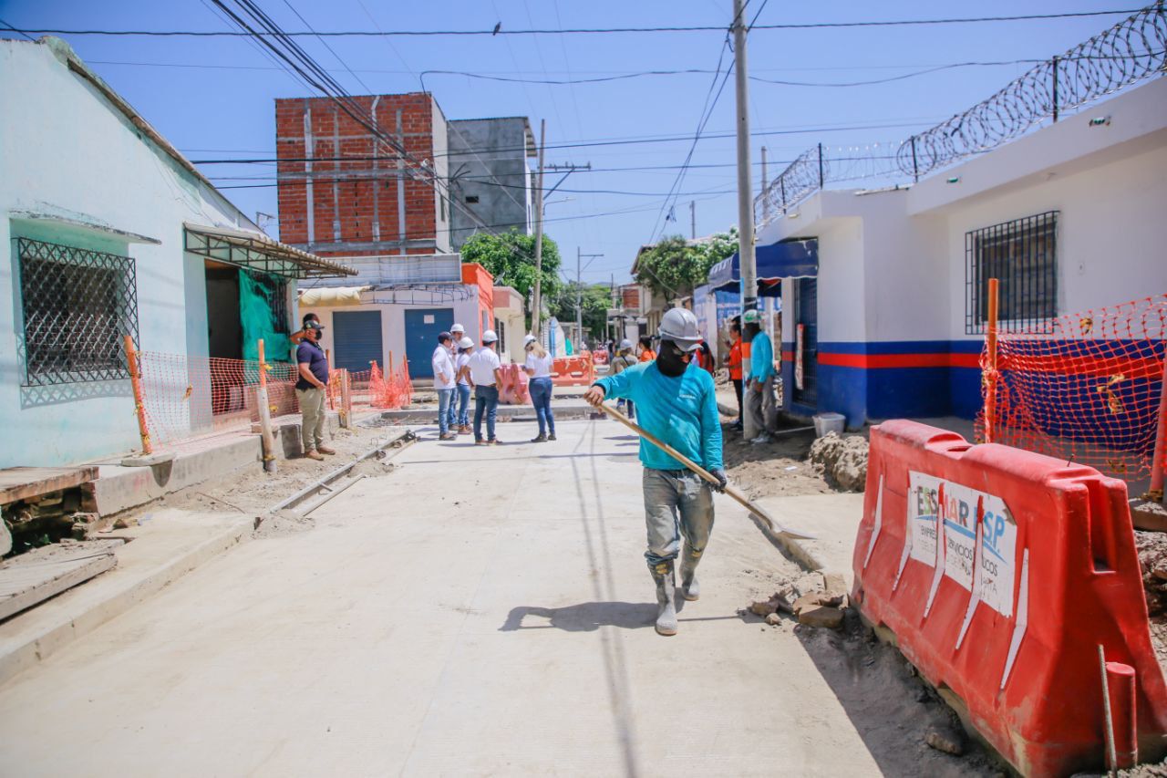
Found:
<svg viewBox="0 0 1167 778"><path fill-rule="evenodd" d="M1139 479L1152 472L1167 294L997 335L994 443ZM981 396L992 380L986 349ZM987 402L987 400L986 400ZM986 407L977 417L984 439ZM1163 467L1162 452L1159 467Z"/></svg>

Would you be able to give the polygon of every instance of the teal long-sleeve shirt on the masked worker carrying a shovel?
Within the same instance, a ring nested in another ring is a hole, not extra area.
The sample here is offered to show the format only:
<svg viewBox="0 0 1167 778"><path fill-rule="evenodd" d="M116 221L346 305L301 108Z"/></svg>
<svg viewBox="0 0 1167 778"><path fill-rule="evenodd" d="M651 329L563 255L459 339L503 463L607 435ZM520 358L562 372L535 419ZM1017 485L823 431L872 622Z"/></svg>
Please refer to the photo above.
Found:
<svg viewBox="0 0 1167 778"><path fill-rule="evenodd" d="M676 378L661 373L656 362L641 362L617 375L595 382L605 397L627 397L636 404L636 422L706 470L721 470L721 423L713 378L696 364ZM641 463L650 470L685 466L641 439Z"/></svg>

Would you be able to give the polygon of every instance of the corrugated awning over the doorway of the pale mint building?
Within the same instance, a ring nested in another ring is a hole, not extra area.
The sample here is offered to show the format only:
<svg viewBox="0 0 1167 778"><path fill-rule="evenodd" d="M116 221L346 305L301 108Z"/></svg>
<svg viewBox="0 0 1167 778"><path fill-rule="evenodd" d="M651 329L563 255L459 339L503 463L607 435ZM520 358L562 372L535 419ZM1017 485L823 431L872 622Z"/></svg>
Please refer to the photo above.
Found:
<svg viewBox="0 0 1167 778"><path fill-rule="evenodd" d="M348 265L301 251L259 232L228 227L183 223L186 250L208 259L285 278L344 278L356 276Z"/></svg>

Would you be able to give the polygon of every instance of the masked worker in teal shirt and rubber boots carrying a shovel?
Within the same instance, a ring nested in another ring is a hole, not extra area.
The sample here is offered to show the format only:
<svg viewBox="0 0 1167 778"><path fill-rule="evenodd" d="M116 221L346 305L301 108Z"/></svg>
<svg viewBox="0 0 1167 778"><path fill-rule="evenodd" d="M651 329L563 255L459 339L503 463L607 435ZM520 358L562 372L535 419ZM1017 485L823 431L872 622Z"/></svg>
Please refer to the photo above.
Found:
<svg viewBox="0 0 1167 778"><path fill-rule="evenodd" d="M652 362L641 362L617 375L600 378L584 398L599 407L606 397L636 402L640 424L679 453L698 463L725 488L721 464L721 425L713 378L690 366L700 335L697 317L685 308L671 308L661 320L661 353ZM700 596L697 565L713 530L713 493L710 485L648 440L641 440L644 465L644 522L648 527L649 574L656 583L659 634L677 634L673 603L673 563L682 551L682 595Z"/></svg>

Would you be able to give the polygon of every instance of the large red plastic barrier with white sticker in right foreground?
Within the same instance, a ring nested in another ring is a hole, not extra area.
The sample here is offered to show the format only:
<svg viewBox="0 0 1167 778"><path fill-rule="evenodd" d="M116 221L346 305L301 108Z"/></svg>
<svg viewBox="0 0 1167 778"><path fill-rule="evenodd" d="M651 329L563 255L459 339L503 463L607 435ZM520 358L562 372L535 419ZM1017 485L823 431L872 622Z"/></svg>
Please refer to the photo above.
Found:
<svg viewBox="0 0 1167 778"><path fill-rule="evenodd" d="M871 433L853 567L862 614L1022 774L1104 765L1104 676L1119 766L1135 743L1142 759L1167 752L1121 481L886 422Z"/></svg>

